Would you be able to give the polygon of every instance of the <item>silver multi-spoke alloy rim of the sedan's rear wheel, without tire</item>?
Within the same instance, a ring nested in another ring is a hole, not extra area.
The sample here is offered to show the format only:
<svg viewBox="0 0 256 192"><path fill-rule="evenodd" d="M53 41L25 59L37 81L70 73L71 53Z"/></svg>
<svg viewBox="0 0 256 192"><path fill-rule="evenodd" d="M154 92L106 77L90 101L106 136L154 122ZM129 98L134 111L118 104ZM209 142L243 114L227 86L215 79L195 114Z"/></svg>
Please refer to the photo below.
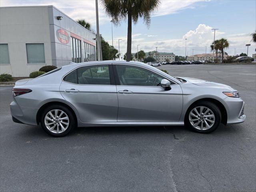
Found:
<svg viewBox="0 0 256 192"><path fill-rule="evenodd" d="M44 117L46 128L52 133L63 133L69 125L68 115L59 109L50 110Z"/></svg>

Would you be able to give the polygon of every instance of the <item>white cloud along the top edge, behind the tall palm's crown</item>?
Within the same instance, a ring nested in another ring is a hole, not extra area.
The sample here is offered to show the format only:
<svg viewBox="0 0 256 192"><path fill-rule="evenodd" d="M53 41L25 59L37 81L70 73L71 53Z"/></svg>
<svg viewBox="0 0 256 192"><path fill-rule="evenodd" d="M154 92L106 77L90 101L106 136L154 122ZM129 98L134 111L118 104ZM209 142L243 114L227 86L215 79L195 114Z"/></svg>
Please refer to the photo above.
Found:
<svg viewBox="0 0 256 192"><path fill-rule="evenodd" d="M193 8L195 4L202 0L162 0L160 7L152 13L152 16L161 16L177 13L178 10ZM40 6L53 5L72 19L86 18L92 26L96 26L95 0L0 0L0 6ZM106 16L99 1L99 22L104 24L110 21Z"/></svg>

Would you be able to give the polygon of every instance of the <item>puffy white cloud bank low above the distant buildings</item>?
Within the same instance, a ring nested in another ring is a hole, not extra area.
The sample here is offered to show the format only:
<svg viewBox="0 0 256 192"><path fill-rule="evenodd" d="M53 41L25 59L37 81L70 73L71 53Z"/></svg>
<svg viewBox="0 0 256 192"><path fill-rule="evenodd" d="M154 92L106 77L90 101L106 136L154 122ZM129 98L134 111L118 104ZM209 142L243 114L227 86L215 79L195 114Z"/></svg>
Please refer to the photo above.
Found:
<svg viewBox="0 0 256 192"><path fill-rule="evenodd" d="M137 45L139 44L139 50L143 49L145 52L156 50L156 46L160 52L173 52L176 55L185 55L185 38L187 38L187 53L192 55L192 49L194 54L210 52L210 45L213 42L214 31L211 30L213 27L205 24L199 24L195 30L190 30L179 39L168 39L168 38L150 38L148 35L136 36L133 34L132 38L132 52L137 52ZM143 37L143 38L142 38ZM116 37L114 39L114 45L118 48L118 39L122 38L120 42L120 52L126 53L126 42L127 36ZM227 38L230 43L230 48L225 50L229 54L234 54L234 48L239 52L245 52L244 46L250 43L250 34L230 34L226 35L221 30L216 30L215 39ZM111 41L108 41L109 43ZM206 46L206 47L205 47Z"/></svg>

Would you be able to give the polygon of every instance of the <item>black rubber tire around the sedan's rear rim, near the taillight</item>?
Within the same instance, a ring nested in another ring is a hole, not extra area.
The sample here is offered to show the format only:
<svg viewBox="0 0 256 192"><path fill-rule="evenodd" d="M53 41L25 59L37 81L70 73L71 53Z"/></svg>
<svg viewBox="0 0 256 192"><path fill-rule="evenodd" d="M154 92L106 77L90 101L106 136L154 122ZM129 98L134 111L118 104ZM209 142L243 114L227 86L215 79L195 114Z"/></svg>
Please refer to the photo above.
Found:
<svg viewBox="0 0 256 192"><path fill-rule="evenodd" d="M61 133L53 133L51 132L50 130L48 130L46 128L46 125L44 123L44 118L46 116L46 114L51 111L51 110L54 110L54 109L58 109L58 110L62 110L63 112L66 113L66 115L68 116L69 118L69 125L68 125L68 128L66 128L66 130L64 132L61 132ZM52 106L48 106L44 109L44 111L42 112L42 118L41 118L41 126L43 128L43 130L48 133L49 135L51 136L56 136L56 137L62 137L66 134L68 134L71 130L73 130L76 126L77 126L77 120L74 116L74 114L70 111L69 108L67 108L66 106L62 106L62 105L52 105Z"/></svg>

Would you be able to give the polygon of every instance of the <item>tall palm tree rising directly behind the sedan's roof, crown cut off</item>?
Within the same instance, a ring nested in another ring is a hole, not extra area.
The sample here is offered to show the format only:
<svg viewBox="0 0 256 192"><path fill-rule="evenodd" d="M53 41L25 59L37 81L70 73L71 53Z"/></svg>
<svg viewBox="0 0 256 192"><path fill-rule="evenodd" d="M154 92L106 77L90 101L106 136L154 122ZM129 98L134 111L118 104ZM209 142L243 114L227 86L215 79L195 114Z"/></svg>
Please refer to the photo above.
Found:
<svg viewBox="0 0 256 192"><path fill-rule="evenodd" d="M160 0L101 0L101 5L115 25L118 25L121 20L126 20L127 17L126 61L130 61L132 54L132 21L136 24L138 18L143 18L149 27L150 13L160 5Z"/></svg>

